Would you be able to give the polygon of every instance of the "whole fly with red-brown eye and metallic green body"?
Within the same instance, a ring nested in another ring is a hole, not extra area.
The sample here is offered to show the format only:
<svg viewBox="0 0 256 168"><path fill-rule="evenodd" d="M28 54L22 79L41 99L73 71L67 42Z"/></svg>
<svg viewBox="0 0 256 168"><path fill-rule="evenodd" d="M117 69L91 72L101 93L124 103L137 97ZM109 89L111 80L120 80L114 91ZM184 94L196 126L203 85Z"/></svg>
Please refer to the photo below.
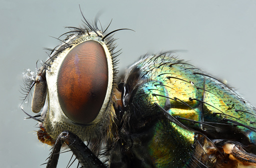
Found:
<svg viewBox="0 0 256 168"><path fill-rule="evenodd" d="M41 114L24 112L54 146L47 168L65 145L83 168L256 166L254 106L172 52L145 55L117 80L113 33L126 28L105 33L83 18L25 73L24 101L34 87Z"/></svg>

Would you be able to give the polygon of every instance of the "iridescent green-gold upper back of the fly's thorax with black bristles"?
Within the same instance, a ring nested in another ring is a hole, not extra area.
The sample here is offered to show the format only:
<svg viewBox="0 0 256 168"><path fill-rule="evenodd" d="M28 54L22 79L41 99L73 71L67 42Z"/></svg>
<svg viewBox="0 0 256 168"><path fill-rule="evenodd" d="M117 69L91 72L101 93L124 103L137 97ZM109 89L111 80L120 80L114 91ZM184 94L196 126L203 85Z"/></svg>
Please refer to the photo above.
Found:
<svg viewBox="0 0 256 168"><path fill-rule="evenodd" d="M152 61L152 64L147 67L143 65L144 62L153 58L155 60ZM170 115L196 122L226 123L228 119L231 119L237 122L236 130L243 133L251 133L251 130L239 126L239 123L248 127L255 126L255 108L252 105L225 84L202 74L194 66L175 58L163 56L148 57L137 66L146 72L141 74L141 79L147 79L141 85L141 89L145 94L150 95L149 99L152 103L159 104ZM227 120L223 121L224 118ZM191 126L191 122L180 121L183 124L189 124L190 128L196 130L211 129L219 132L219 130L208 128L206 125L193 123L194 125Z"/></svg>

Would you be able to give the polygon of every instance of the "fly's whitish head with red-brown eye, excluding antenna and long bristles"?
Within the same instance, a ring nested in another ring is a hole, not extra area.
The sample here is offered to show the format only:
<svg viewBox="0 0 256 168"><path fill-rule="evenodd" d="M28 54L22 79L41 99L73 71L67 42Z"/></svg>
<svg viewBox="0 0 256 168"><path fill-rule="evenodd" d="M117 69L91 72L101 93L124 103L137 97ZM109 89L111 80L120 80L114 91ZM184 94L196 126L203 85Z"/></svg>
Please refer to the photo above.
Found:
<svg viewBox="0 0 256 168"><path fill-rule="evenodd" d="M53 139L65 130L84 141L107 135L114 117L109 46L94 32L66 42L73 44L54 56L46 73L49 106L44 127Z"/></svg>

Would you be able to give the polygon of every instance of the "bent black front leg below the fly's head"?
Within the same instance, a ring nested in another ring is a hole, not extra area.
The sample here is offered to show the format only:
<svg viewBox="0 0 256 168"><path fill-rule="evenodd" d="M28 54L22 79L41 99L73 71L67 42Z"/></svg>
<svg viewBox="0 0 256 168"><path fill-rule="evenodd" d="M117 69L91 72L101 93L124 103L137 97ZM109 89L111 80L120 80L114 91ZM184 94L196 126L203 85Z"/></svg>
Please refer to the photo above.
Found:
<svg viewBox="0 0 256 168"><path fill-rule="evenodd" d="M47 163L47 168L56 168L60 155L61 146L65 143L76 156L82 168L106 168L106 166L92 153L84 142L75 134L63 131L53 148L53 152Z"/></svg>

